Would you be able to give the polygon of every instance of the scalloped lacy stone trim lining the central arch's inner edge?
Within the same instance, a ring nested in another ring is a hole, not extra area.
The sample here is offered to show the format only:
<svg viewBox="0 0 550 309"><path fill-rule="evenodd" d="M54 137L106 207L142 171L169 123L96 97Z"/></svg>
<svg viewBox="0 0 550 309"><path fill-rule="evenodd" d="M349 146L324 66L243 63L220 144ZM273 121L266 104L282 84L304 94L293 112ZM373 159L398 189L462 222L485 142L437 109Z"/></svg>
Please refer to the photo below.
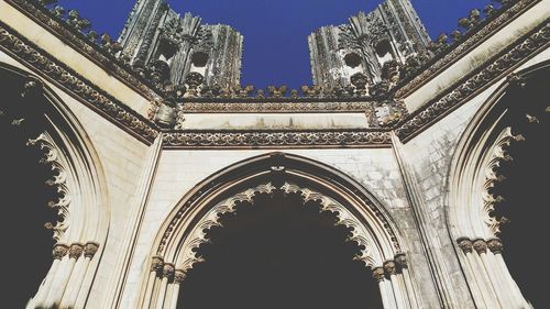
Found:
<svg viewBox="0 0 550 309"><path fill-rule="evenodd" d="M195 224L193 231L187 236L187 240L180 249L178 262L176 266L184 273L193 268L194 264L204 262L204 258L196 255L196 250L204 243L208 243L206 238L208 230L212 227L222 227L220 218L224 213L235 212L238 202L253 203L253 197L261 194L271 194L276 189L282 189L286 194L298 194L304 198L304 203L308 201L317 201L321 206L320 211L330 211L338 218L336 225L344 225L350 228L352 235L346 240L356 242L361 247L361 254L354 257L356 261L362 261L366 266L375 267L382 264L383 258L375 255L372 240L374 236L364 228L359 219L353 216L344 206L327 197L320 192L314 191L308 188L301 188L295 184L285 183L279 188L275 187L272 183L260 185L257 187L239 192L228 199L217 203L208 213ZM163 247L160 247L157 253L161 253Z"/></svg>

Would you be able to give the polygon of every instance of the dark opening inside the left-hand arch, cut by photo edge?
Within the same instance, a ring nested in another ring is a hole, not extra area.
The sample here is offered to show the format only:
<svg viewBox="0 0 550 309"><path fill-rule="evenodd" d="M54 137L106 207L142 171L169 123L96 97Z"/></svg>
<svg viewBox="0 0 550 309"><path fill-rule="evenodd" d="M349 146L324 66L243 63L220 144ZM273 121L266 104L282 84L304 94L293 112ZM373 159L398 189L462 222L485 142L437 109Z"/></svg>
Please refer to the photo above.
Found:
<svg viewBox="0 0 550 309"><path fill-rule="evenodd" d="M56 222L47 202L57 199L56 189L46 185L53 179L51 166L41 164L44 152L26 145L45 129L45 98L28 88L25 77L0 68L0 143L2 177L2 286L10 291L2 297L9 308L24 308L36 293L52 265L53 233L45 228Z"/></svg>

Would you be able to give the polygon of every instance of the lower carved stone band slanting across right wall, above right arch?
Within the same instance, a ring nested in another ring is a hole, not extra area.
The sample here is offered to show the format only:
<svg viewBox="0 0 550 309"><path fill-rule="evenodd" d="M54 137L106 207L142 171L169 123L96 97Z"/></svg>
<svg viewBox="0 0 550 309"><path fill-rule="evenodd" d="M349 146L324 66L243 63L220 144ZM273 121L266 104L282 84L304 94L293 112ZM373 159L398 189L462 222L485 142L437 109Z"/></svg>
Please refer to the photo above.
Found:
<svg viewBox="0 0 550 309"><path fill-rule="evenodd" d="M530 33L519 38L510 47L496 57L488 59L477 73L466 76L450 87L441 98L427 103L422 109L411 113L395 125L397 136L409 139L416 132L424 130L448 111L460 107L470 96L480 91L493 80L503 77L518 64L528 59L536 51L548 46L550 41L550 25L543 23Z"/></svg>

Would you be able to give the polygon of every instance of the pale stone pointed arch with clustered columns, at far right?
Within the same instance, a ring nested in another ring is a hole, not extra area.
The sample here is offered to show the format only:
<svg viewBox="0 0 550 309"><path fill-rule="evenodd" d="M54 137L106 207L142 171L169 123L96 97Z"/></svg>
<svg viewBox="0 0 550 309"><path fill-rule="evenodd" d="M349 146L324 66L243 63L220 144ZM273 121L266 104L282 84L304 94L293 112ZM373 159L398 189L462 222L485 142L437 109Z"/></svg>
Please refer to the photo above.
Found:
<svg viewBox="0 0 550 309"><path fill-rule="evenodd" d="M480 108L453 155L446 217L480 308L532 308L503 257L499 234L508 219L498 209L505 201L498 187L509 176L504 170L514 161L510 148L525 141L521 122L548 121L550 106L535 103L537 93L522 89L530 80L540 84L549 69L547 60L510 74Z"/></svg>

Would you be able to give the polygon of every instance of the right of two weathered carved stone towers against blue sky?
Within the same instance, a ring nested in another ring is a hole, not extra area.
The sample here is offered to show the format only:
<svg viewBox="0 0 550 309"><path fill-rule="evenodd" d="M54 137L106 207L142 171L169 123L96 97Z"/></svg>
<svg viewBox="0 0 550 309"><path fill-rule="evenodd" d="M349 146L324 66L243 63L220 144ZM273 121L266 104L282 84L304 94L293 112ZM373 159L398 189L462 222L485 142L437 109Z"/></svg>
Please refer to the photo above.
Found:
<svg viewBox="0 0 550 309"><path fill-rule="evenodd" d="M326 88L373 85L428 53L430 38L409 0L386 0L349 24L322 26L308 37L314 84Z"/></svg>

